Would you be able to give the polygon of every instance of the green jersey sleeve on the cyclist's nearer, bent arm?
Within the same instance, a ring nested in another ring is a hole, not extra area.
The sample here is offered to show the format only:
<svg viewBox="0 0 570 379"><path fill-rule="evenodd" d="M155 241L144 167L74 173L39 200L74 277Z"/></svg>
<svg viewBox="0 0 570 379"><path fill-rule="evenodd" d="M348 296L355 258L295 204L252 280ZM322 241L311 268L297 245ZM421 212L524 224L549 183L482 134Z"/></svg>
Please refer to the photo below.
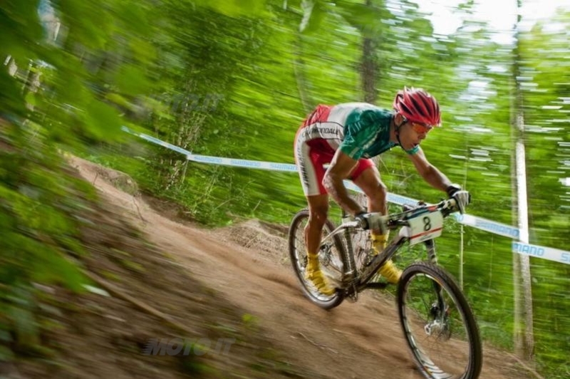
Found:
<svg viewBox="0 0 570 379"><path fill-rule="evenodd" d="M372 110L363 110L348 119L344 127L344 140L339 149L353 160L361 159L366 148L371 145L377 135L377 117Z"/></svg>

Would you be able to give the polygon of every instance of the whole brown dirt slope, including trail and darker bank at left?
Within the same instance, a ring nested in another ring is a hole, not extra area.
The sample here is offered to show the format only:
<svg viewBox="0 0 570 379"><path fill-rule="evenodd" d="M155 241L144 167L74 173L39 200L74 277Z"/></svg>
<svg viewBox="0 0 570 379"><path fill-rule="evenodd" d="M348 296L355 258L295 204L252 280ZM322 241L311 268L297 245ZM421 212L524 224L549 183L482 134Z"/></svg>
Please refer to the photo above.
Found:
<svg viewBox="0 0 570 379"><path fill-rule="evenodd" d="M252 220L201 229L133 196L136 184L120 173L71 165L100 193L83 261L107 294L57 289L46 308L56 355L6 368L12 377L421 378L393 299L364 294L316 308L289 266L284 228ZM152 339L175 337L214 343L204 355L142 353ZM225 353L214 351L219 338L234 341ZM485 348L481 378L526 377L512 356Z"/></svg>

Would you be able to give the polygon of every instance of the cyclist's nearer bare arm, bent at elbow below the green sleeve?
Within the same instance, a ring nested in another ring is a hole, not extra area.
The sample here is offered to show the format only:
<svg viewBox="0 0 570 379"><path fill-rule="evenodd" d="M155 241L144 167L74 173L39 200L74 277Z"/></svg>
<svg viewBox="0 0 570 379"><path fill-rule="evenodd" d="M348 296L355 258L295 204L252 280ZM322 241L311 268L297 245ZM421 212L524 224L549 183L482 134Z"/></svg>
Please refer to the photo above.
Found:
<svg viewBox="0 0 570 379"><path fill-rule="evenodd" d="M362 207L348 196L348 191L346 187L344 187L343 180L350 177L351 171L357 163L357 160L353 160L342 152L341 149L338 149L323 177L323 186L326 192L328 192L334 201L343 207L346 212L353 215L362 212Z"/></svg>

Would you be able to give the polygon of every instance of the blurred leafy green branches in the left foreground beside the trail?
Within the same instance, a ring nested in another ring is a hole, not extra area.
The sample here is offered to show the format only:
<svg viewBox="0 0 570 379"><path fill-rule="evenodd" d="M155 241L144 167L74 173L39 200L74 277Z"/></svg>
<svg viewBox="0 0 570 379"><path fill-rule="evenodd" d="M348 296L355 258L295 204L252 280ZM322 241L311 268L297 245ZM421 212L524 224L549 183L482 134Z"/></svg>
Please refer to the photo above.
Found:
<svg viewBox="0 0 570 379"><path fill-rule="evenodd" d="M49 326L37 316L45 286L83 291L87 283L73 258L86 254L79 227L95 192L66 167L61 149L119 140L124 110L108 95L134 98L149 88L140 67L155 57L137 43L148 31L139 16L150 15L130 8L135 3L28 0L0 7L3 352L50 355L41 345Z"/></svg>

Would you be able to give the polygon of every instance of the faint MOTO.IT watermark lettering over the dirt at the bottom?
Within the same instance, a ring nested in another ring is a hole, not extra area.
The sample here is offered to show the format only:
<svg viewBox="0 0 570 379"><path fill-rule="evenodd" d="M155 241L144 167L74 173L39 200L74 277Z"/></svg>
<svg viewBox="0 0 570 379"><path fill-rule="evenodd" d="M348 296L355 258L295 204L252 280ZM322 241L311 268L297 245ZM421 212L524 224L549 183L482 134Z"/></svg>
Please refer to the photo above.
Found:
<svg viewBox="0 0 570 379"><path fill-rule="evenodd" d="M204 355L229 353L235 338L151 338L143 355Z"/></svg>

